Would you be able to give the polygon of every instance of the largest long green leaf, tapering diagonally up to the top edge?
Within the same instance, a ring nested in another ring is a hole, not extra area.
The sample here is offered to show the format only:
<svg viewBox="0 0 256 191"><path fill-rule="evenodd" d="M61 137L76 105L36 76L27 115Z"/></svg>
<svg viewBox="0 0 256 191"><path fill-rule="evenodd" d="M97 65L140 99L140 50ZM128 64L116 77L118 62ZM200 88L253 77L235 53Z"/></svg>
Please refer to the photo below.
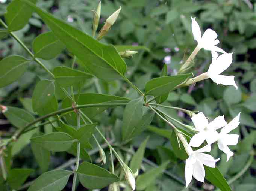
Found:
<svg viewBox="0 0 256 191"><path fill-rule="evenodd" d="M98 42L88 34L68 25L51 14L39 9L28 0L26 2L38 13L45 24L50 27L56 37L67 49L79 58L83 64L98 78L106 81L120 79L126 72L126 63L113 45Z"/></svg>

